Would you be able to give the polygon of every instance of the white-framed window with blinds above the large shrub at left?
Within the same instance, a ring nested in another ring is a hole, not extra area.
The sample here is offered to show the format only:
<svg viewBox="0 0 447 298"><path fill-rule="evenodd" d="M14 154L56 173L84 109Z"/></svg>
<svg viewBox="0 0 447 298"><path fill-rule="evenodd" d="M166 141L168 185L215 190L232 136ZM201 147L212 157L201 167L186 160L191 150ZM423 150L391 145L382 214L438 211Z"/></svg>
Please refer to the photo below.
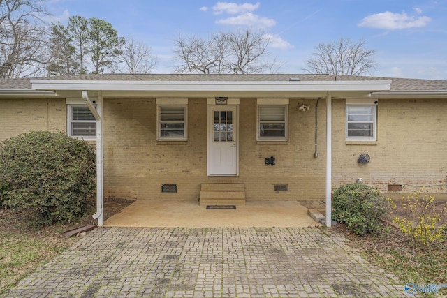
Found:
<svg viewBox="0 0 447 298"><path fill-rule="evenodd" d="M96 119L87 105L68 105L68 135L95 138Z"/></svg>

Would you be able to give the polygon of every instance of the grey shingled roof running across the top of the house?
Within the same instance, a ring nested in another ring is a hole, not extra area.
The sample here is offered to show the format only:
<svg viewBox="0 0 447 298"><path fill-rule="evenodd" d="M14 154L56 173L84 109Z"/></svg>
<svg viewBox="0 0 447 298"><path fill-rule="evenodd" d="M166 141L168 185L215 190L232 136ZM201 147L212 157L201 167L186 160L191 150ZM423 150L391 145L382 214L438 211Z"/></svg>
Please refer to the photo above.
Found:
<svg viewBox="0 0 447 298"><path fill-rule="evenodd" d="M72 75L57 77L36 77L33 80L86 80L86 81L216 81L216 82L249 82L249 81L289 81L291 78L300 81L365 81L390 80L391 91L447 91L447 80L403 79L396 77L359 77L351 75L309 75L309 74L275 74L275 75L200 75L200 74L99 74ZM0 80L0 90L31 90L29 78Z"/></svg>

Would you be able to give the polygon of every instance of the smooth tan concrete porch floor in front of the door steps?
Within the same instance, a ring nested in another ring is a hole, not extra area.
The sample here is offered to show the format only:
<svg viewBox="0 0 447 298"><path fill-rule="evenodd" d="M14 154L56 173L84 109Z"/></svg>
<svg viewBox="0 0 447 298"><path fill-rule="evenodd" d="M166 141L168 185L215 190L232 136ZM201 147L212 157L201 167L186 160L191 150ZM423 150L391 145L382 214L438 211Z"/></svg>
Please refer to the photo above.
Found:
<svg viewBox="0 0 447 298"><path fill-rule="evenodd" d="M213 210L198 202L137 200L104 222L105 227L249 228L315 227L297 201L247 201L235 210Z"/></svg>

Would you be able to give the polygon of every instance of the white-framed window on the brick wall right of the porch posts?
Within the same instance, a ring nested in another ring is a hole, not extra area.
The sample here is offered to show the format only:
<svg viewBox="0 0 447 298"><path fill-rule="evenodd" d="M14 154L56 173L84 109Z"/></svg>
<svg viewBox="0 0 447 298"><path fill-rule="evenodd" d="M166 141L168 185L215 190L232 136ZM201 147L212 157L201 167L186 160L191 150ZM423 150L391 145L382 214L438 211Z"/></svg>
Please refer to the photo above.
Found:
<svg viewBox="0 0 447 298"><path fill-rule="evenodd" d="M346 105L346 140L376 140L376 105Z"/></svg>

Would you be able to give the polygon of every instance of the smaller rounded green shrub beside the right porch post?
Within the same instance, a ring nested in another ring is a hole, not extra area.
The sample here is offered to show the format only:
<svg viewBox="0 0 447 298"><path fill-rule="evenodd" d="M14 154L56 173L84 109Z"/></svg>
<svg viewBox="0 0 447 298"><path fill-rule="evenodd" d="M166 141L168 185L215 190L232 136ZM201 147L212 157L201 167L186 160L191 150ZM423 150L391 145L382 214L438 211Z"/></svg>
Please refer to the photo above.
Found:
<svg viewBox="0 0 447 298"><path fill-rule="evenodd" d="M346 223L355 234L365 236L379 232L379 218L386 212L386 200L379 191L366 184L346 184L332 196L332 219Z"/></svg>

